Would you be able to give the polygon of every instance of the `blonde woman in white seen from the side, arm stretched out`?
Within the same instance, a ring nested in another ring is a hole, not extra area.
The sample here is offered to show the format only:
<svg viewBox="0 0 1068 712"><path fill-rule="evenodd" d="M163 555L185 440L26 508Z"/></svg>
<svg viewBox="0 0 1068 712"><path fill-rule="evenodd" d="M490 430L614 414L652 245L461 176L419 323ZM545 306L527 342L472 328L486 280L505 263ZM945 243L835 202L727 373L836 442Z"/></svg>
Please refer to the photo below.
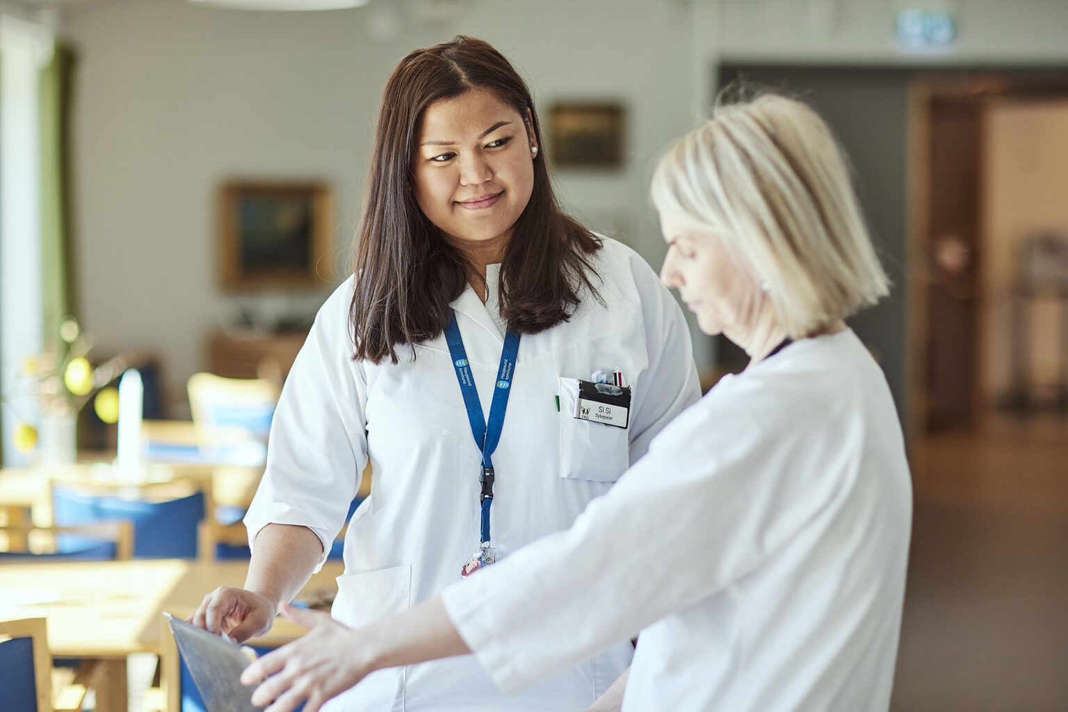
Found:
<svg viewBox="0 0 1068 712"><path fill-rule="evenodd" d="M372 670L467 652L515 690L640 632L593 709L888 709L911 493L890 391L844 322L888 285L842 152L766 95L684 137L653 200L661 279L745 370L570 529L362 629L290 611L314 629L246 670L254 701L314 712Z"/></svg>

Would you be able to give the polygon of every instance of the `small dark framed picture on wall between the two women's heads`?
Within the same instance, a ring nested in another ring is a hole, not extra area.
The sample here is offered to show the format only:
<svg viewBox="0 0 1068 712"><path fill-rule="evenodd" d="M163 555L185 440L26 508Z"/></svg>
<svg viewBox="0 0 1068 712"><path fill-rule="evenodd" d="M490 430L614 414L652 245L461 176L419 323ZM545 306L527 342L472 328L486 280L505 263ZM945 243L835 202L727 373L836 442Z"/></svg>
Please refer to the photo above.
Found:
<svg viewBox="0 0 1068 712"><path fill-rule="evenodd" d="M623 106L556 104L549 110L549 158L557 168L623 164Z"/></svg>

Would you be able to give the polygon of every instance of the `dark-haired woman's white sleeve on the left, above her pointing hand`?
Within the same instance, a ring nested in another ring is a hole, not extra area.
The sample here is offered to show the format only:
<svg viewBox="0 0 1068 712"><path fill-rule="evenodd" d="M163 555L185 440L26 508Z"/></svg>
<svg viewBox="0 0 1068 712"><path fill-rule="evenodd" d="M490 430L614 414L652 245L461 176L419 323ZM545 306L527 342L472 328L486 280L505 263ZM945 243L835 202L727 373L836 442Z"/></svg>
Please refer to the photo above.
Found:
<svg viewBox="0 0 1068 712"><path fill-rule="evenodd" d="M349 280L327 300L286 377L267 468L245 517L249 541L267 524L307 526L326 560L367 462L366 378L351 359Z"/></svg>

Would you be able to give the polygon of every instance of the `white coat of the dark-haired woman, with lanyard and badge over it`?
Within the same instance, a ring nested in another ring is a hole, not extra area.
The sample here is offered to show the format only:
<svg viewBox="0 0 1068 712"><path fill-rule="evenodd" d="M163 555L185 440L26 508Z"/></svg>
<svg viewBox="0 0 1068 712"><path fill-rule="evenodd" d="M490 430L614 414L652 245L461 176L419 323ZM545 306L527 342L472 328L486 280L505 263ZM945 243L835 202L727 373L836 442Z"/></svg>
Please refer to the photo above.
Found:
<svg viewBox="0 0 1068 712"><path fill-rule="evenodd" d="M492 540L502 559L570 526L701 396L689 332L657 275L611 239L594 262L604 304L586 298L570 320L519 344L493 454ZM470 287L453 302L486 414L504 331L499 266L487 272L485 305ZM398 364L352 361L351 295L349 280L328 299L294 363L246 523L250 539L270 522L304 525L329 549L370 457L371 496L349 523L333 607L335 618L355 627L459 580L478 548L481 455L444 335L400 348ZM574 418L561 379L613 368L633 389L629 427ZM502 694L471 656L381 670L332 709L581 710L623 673L632 652L621 640L518 695Z"/></svg>

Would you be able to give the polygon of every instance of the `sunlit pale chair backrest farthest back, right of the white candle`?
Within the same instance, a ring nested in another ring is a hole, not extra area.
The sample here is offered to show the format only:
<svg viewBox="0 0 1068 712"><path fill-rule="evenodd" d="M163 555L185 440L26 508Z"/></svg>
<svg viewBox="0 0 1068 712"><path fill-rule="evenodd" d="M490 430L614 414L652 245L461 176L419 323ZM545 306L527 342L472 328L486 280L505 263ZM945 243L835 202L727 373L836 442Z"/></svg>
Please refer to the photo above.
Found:
<svg viewBox="0 0 1068 712"><path fill-rule="evenodd" d="M278 405L278 384L266 378L193 374L187 384L197 437L202 445L267 441Z"/></svg>

